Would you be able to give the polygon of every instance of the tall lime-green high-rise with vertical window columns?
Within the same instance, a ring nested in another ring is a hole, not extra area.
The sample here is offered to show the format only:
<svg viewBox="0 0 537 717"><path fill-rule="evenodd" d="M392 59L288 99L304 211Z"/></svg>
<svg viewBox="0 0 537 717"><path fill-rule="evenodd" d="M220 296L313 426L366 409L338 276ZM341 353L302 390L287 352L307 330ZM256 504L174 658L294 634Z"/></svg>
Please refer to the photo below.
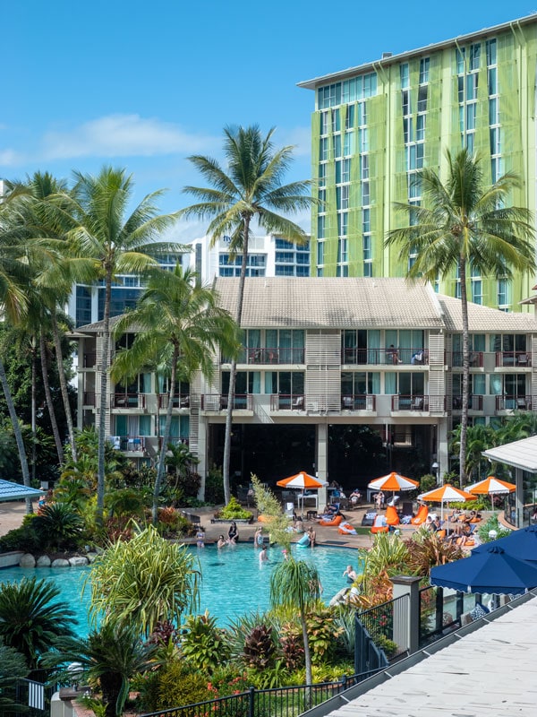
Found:
<svg viewBox="0 0 537 717"><path fill-rule="evenodd" d="M322 203L311 222L314 276L405 276L413 255L385 248L422 200L416 173L443 174L445 150L482 157L485 179L514 171L512 203L535 212L537 15L299 82L315 91L312 178ZM472 272L469 298L518 311L534 276L512 281ZM459 296L456 274L435 287Z"/></svg>

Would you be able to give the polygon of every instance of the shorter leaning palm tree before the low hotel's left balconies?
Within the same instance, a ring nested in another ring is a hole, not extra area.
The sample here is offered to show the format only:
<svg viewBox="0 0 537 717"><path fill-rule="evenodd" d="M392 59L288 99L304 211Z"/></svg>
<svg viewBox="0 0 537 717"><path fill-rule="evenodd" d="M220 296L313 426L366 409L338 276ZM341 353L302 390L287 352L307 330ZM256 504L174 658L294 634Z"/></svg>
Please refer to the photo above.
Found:
<svg viewBox="0 0 537 717"><path fill-rule="evenodd" d="M233 354L238 347L234 320L217 307L214 289L200 286L196 275L179 263L174 272L155 270L136 309L122 316L115 336L136 328L132 347L119 352L112 368L114 379L136 376L148 365L166 366L169 371L166 425L158 457L153 496L153 522L157 523L158 499L166 468L166 446L170 439L179 374L190 381L196 371L210 379L214 373L213 356L218 346Z"/></svg>

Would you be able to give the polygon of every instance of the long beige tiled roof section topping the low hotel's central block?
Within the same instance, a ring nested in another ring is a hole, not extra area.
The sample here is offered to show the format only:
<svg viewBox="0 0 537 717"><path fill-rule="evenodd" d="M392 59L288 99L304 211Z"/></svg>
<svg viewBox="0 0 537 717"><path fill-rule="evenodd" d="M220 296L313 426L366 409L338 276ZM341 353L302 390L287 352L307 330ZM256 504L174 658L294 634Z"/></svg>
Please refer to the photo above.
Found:
<svg viewBox="0 0 537 717"><path fill-rule="evenodd" d="M238 279L216 281L221 304L232 315ZM242 325L296 328L442 328L430 287L403 279L246 279Z"/></svg>

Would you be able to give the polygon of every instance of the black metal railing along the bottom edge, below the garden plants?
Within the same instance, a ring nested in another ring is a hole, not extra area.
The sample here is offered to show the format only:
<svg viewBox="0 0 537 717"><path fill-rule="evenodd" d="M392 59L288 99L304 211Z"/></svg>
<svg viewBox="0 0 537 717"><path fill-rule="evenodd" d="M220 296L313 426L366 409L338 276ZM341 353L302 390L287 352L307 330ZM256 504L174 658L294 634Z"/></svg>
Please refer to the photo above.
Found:
<svg viewBox="0 0 537 717"><path fill-rule="evenodd" d="M382 662L382 658L380 657ZM385 669L388 663L368 669L350 677L333 682L321 682L315 685L295 685L294 687L273 687L255 689L229 697L173 707L160 712L141 714L140 717L207 717L217 714L219 717L297 717L318 704L339 695L345 689L354 687L364 679Z"/></svg>

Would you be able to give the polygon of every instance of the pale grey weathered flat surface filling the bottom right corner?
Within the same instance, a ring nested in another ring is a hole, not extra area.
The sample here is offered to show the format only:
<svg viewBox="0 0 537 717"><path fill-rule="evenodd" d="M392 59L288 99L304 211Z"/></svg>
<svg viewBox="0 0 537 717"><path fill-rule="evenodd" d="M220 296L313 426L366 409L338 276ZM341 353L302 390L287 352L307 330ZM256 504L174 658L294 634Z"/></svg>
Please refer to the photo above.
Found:
<svg viewBox="0 0 537 717"><path fill-rule="evenodd" d="M328 715L535 717L536 664L533 598Z"/></svg>

